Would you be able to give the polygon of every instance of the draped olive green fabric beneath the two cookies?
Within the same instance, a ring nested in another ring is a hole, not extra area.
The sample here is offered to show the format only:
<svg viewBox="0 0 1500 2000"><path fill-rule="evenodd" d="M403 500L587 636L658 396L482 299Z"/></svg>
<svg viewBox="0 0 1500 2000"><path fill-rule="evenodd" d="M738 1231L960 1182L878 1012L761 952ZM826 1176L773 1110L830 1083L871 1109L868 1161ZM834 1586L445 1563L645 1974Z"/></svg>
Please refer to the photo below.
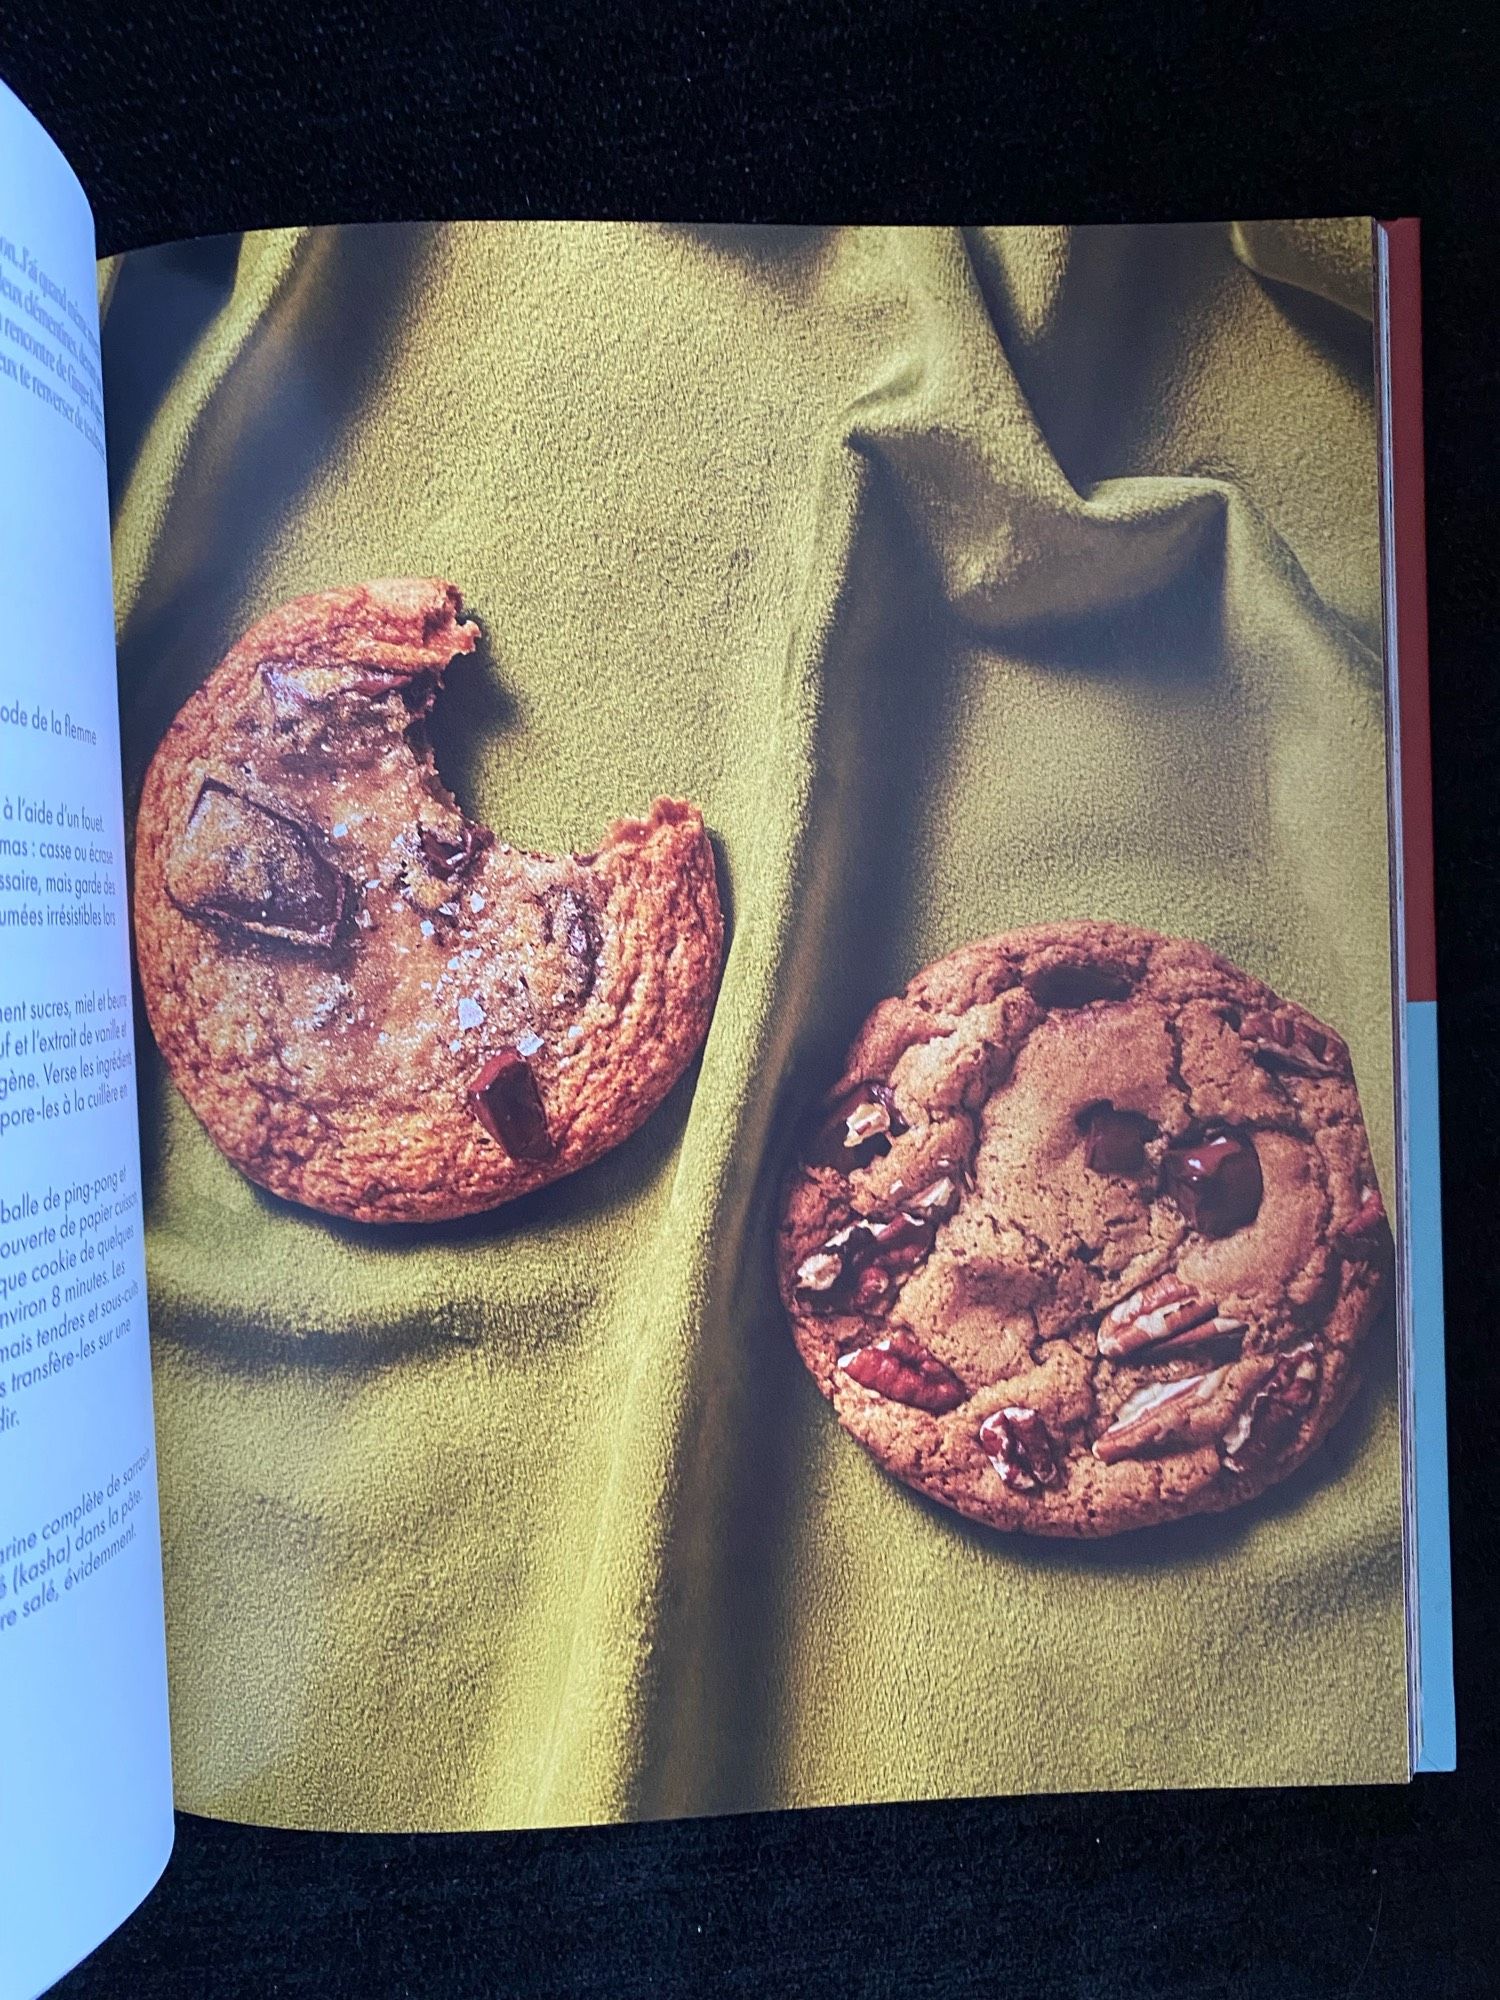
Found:
<svg viewBox="0 0 1500 2000"><path fill-rule="evenodd" d="M962 940L1208 940L1354 1048L1390 1184L1368 232L444 226L110 274L128 786L296 592L482 620L504 838L656 792L730 916L702 1064L584 1174L378 1232L262 1196L150 1050L180 1802L558 1824L1406 1772L1388 1338L1266 1502L968 1526L834 1424L786 1134Z"/></svg>

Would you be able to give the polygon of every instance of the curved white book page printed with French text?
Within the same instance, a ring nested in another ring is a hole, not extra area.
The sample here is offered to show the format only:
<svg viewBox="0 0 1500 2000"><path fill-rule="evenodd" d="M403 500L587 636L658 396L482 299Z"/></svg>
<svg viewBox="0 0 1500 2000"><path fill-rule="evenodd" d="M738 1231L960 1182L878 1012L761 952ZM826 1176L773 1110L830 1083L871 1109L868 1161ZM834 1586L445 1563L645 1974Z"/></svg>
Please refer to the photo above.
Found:
<svg viewBox="0 0 1500 2000"><path fill-rule="evenodd" d="M172 1844L94 226L0 86L0 1994Z"/></svg>

